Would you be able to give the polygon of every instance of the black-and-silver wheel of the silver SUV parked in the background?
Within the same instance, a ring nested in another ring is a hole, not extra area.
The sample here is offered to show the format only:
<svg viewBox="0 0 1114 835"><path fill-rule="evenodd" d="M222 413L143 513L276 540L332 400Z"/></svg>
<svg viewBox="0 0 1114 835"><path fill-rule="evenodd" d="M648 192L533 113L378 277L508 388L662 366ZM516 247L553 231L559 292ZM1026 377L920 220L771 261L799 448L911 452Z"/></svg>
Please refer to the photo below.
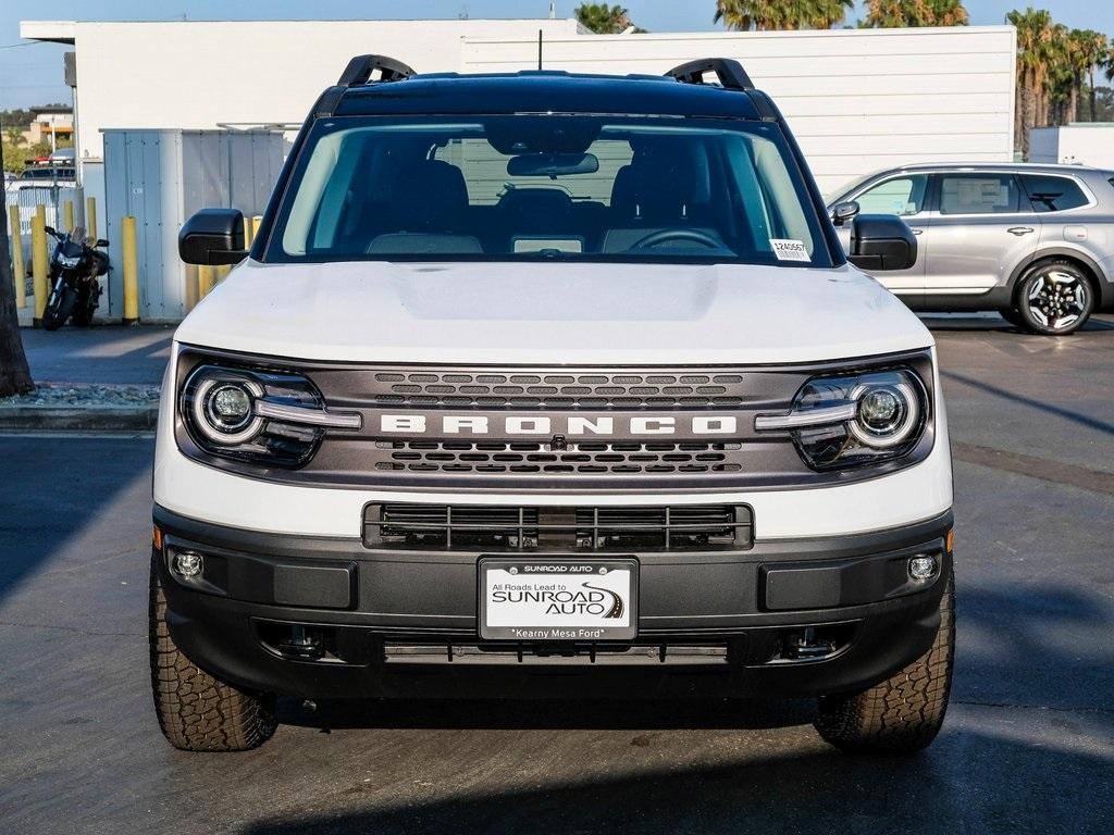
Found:
<svg viewBox="0 0 1114 835"><path fill-rule="evenodd" d="M1022 278L1016 308L1023 326L1033 333L1065 336L1091 317L1095 294L1077 266L1066 261L1045 261Z"/></svg>

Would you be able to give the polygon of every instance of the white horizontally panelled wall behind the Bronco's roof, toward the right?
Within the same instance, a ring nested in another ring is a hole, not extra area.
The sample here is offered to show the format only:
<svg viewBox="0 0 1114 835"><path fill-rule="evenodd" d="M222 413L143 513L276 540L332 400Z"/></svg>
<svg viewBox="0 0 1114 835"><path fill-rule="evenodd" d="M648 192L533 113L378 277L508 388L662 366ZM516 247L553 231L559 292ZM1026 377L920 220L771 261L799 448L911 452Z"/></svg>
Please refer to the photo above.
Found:
<svg viewBox="0 0 1114 835"><path fill-rule="evenodd" d="M737 58L831 193L907 163L1012 160L1015 55L1013 27L651 33L547 39L545 67L662 73L694 58ZM536 38L465 45L468 72L536 59Z"/></svg>

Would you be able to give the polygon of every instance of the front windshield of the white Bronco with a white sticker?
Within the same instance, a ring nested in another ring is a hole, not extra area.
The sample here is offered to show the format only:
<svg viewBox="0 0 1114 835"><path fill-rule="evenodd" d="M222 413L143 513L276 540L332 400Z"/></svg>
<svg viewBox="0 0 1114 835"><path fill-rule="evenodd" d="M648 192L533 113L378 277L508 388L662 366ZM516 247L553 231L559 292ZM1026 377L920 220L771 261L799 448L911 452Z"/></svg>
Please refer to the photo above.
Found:
<svg viewBox="0 0 1114 835"><path fill-rule="evenodd" d="M323 120L265 259L831 266L776 125L663 121Z"/></svg>

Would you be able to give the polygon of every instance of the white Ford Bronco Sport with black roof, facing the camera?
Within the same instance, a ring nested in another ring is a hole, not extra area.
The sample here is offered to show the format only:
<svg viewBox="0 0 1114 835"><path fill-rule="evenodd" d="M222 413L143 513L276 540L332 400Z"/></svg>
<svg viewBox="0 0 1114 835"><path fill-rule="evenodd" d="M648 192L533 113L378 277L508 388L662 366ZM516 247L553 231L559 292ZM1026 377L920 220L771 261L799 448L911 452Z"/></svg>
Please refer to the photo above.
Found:
<svg viewBox="0 0 1114 835"><path fill-rule="evenodd" d="M663 77L353 59L251 252L178 328L150 660L169 741L260 745L275 697L818 697L911 752L951 678L934 342L848 264L735 61Z"/></svg>

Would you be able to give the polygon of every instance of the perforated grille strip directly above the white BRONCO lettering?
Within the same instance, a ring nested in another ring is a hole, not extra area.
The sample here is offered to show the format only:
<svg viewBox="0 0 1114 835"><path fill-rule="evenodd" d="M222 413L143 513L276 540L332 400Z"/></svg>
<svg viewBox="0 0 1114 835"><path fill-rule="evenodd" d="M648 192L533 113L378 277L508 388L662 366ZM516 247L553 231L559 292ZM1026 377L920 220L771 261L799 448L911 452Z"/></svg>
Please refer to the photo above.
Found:
<svg viewBox="0 0 1114 835"><path fill-rule="evenodd" d="M534 409L737 406L737 373L380 371L374 405Z"/></svg>

